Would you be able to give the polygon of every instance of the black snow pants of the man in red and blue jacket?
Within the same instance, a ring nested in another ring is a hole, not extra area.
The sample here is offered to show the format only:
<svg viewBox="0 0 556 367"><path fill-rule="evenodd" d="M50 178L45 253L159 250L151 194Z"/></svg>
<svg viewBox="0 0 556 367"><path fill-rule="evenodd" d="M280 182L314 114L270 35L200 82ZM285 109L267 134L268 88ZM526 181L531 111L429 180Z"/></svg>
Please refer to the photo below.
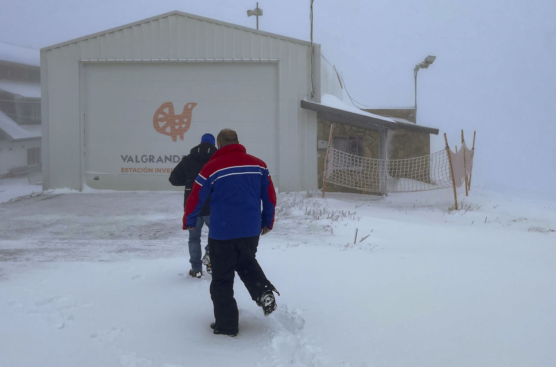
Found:
<svg viewBox="0 0 556 367"><path fill-rule="evenodd" d="M212 268L210 295L214 304L215 330L237 334L239 313L234 299L234 276L240 276L251 298L257 302L274 286L255 259L259 236L216 240L209 238L209 254Z"/></svg>

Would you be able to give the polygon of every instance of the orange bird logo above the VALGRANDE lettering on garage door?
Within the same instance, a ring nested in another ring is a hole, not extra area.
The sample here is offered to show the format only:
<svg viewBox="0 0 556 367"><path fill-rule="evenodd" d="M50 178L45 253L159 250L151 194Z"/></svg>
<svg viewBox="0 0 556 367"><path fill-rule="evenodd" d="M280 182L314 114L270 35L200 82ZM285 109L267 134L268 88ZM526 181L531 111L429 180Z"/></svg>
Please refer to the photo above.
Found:
<svg viewBox="0 0 556 367"><path fill-rule="evenodd" d="M174 113L173 103L164 102L158 107L152 118L152 125L155 130L163 135L172 137L175 142L177 137L183 140L183 134L191 126L191 112L197 103L186 103L183 112L179 115Z"/></svg>

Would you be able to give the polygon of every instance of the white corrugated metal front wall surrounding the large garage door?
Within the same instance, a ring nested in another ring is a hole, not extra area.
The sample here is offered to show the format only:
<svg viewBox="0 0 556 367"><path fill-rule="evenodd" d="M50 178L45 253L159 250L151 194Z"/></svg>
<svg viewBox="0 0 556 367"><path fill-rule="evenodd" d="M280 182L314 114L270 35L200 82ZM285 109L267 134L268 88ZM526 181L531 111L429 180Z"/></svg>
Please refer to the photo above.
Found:
<svg viewBox="0 0 556 367"><path fill-rule="evenodd" d="M82 62L277 61L280 189L314 189L316 114L299 107L311 92L310 56L307 42L178 12L42 49L44 188L83 188ZM320 69L314 76L320 90Z"/></svg>

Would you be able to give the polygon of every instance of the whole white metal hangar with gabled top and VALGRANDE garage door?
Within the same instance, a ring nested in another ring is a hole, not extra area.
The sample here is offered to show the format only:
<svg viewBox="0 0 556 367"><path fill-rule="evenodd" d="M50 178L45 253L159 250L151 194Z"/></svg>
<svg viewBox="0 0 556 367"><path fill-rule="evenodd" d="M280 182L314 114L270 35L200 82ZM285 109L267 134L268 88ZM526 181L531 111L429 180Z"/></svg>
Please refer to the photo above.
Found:
<svg viewBox="0 0 556 367"><path fill-rule="evenodd" d="M43 48L44 189L172 189L222 128L281 191L316 188L317 114L300 108L321 95L314 54L311 78L309 42L178 11Z"/></svg>

